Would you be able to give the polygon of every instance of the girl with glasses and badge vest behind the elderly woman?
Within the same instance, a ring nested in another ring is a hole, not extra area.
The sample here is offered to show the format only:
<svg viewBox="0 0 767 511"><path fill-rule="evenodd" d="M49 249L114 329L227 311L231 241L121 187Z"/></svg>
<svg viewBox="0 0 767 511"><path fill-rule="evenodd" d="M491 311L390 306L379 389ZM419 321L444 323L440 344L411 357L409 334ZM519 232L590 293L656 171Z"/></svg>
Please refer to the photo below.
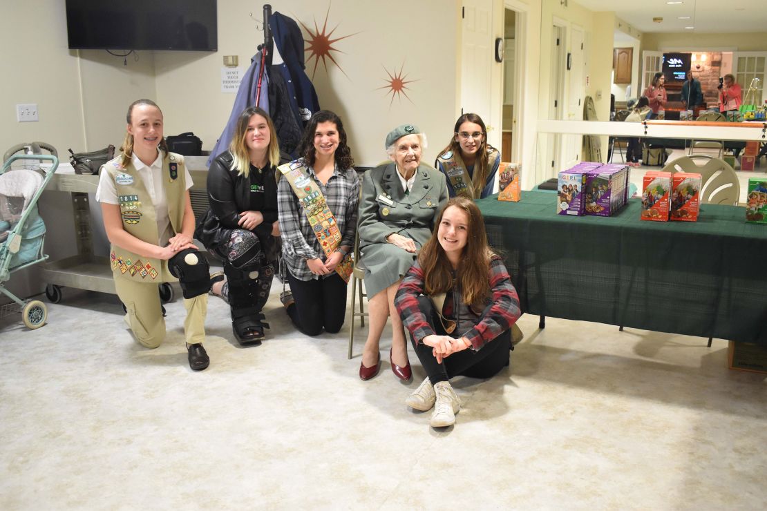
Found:
<svg viewBox="0 0 767 511"><path fill-rule="evenodd" d="M464 113L434 166L445 175L450 197L476 199L492 195L500 162L501 153L487 143L482 118L476 113Z"/></svg>

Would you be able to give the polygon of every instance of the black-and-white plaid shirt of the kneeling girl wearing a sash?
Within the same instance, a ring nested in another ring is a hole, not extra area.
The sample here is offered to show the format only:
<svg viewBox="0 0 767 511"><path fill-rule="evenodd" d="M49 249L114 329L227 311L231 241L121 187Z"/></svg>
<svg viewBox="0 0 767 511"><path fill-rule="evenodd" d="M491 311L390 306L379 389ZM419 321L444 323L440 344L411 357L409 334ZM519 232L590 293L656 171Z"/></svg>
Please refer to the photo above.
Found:
<svg viewBox="0 0 767 511"><path fill-rule="evenodd" d="M348 247L347 253L354 247L354 233L357 230L357 204L360 201L360 179L354 169L333 171L328 184L323 185L314 175L314 169L306 166L309 179L320 188L322 195L328 201L333 216L341 231L340 247ZM279 172L279 171L278 171ZM291 275L298 280L312 280L320 276L314 275L306 264L307 259L326 259L320 241L314 234L308 218L304 214L303 205L293 193L288 179L281 177L277 187L277 203L282 237L282 260ZM331 277L335 272L324 275Z"/></svg>

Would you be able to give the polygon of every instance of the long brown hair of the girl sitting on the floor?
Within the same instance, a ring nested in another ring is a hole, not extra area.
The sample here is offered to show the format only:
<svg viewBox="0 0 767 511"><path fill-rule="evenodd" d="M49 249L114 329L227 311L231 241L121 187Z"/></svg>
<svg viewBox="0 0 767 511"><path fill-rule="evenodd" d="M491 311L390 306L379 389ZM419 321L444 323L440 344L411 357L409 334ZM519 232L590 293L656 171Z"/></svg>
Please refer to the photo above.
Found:
<svg viewBox="0 0 767 511"><path fill-rule="evenodd" d="M469 219L466 247L463 247L461 263L456 273L459 289L465 303L484 306L490 293L488 272L490 258L494 253L487 243L482 213L479 212L474 201L463 196L451 198L442 208L442 211L439 211L434 224L434 231L418 254L418 263L423 274L426 275L424 290L427 295L432 296L446 293L453 288L453 267L450 265L442 245L439 244L439 235L437 234L445 211L452 206L464 211Z"/></svg>

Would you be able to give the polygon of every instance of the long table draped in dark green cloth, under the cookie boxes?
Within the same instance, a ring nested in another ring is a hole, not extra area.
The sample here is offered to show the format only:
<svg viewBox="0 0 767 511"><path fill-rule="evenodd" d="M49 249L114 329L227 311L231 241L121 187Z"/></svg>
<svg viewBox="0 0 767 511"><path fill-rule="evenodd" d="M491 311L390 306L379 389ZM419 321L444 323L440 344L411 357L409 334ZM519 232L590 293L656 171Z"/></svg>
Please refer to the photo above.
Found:
<svg viewBox="0 0 767 511"><path fill-rule="evenodd" d="M551 192L477 201L526 313L767 346L767 224L701 205L696 222L561 216Z"/></svg>

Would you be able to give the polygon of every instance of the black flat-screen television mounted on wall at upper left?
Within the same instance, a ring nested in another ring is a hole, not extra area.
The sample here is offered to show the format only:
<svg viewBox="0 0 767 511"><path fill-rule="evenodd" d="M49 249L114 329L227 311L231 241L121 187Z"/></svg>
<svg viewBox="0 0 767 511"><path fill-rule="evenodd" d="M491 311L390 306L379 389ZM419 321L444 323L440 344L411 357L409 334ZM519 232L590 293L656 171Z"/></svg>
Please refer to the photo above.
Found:
<svg viewBox="0 0 767 511"><path fill-rule="evenodd" d="M66 0L71 50L218 51L216 0Z"/></svg>

